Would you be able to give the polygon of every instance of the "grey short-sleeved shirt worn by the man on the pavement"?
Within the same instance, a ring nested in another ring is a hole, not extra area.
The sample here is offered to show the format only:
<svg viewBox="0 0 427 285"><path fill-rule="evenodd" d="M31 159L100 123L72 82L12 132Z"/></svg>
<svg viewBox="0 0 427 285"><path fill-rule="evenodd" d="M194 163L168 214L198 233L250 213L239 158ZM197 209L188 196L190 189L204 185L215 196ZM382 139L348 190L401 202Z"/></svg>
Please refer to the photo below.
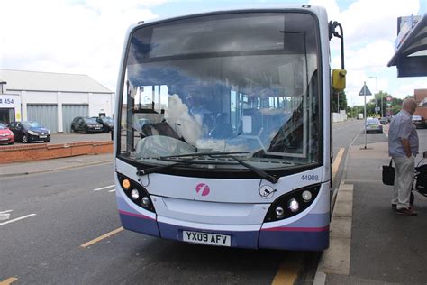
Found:
<svg viewBox="0 0 427 285"><path fill-rule="evenodd" d="M418 154L418 133L412 121L412 115L401 110L393 117L388 131L388 155L405 156L401 139L409 140L413 155Z"/></svg>

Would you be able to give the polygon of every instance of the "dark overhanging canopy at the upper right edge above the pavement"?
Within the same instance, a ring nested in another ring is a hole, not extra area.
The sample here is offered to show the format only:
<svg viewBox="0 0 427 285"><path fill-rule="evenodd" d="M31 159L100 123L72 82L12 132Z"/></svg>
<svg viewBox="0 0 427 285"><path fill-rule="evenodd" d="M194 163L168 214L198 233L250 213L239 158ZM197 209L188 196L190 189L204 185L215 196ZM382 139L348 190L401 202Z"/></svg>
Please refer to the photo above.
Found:
<svg viewBox="0 0 427 285"><path fill-rule="evenodd" d="M398 78L427 76L427 14L416 23L387 64Z"/></svg>

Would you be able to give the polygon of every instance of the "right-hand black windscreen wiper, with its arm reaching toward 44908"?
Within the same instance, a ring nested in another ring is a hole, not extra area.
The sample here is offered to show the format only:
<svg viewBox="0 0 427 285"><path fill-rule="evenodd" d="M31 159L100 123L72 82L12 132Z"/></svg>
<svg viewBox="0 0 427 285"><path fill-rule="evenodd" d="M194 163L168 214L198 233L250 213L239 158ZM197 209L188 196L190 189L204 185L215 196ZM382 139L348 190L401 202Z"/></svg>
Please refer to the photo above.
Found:
<svg viewBox="0 0 427 285"><path fill-rule="evenodd" d="M241 161L240 159L238 159L237 157L234 156L234 154L245 154L245 153L250 153L250 152L199 152L199 153L191 153L191 154L189 153L189 154L162 156L159 159L162 161L174 161L174 162L177 162L177 164L180 162L184 162L187 164L206 164L206 163L213 164L210 161L209 162L202 162L202 161L182 160L182 161L178 162L176 159L177 158L186 158L186 157L201 157L201 156L209 156L211 158L231 158L233 161L237 161L242 166L246 167L247 169L249 169L252 172L254 172L255 174L257 174L260 178L266 179L273 184L277 183L278 177L276 175L270 175L266 171L259 170L255 166L252 166L252 165L250 165L244 161ZM221 164L224 164L224 163L221 162Z"/></svg>

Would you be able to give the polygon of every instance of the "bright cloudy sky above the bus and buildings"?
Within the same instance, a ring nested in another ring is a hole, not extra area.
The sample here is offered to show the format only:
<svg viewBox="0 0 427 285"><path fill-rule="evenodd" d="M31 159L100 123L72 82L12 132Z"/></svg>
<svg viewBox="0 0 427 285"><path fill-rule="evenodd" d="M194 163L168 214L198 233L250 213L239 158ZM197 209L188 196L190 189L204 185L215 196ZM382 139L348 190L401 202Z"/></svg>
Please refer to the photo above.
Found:
<svg viewBox="0 0 427 285"><path fill-rule="evenodd" d="M115 91L128 27L140 21L250 7L322 5L344 29L348 105L372 93L394 97L427 88L427 78L397 78L386 65L395 49L398 16L426 14L427 0L0 0L0 69L86 74ZM332 69L341 68L332 40ZM369 97L367 97L369 100Z"/></svg>

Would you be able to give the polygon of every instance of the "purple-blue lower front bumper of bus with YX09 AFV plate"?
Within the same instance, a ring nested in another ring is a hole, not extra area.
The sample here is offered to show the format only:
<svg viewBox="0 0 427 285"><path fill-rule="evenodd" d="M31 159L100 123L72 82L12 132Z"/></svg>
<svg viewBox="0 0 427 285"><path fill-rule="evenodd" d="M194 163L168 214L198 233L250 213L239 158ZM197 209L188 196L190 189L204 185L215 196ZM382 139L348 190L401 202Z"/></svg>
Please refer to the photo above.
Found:
<svg viewBox="0 0 427 285"><path fill-rule="evenodd" d="M154 219L123 210L119 213L123 227L128 230L181 242L304 251L323 251L329 247L329 225L273 228L263 225L209 225L162 216Z"/></svg>

